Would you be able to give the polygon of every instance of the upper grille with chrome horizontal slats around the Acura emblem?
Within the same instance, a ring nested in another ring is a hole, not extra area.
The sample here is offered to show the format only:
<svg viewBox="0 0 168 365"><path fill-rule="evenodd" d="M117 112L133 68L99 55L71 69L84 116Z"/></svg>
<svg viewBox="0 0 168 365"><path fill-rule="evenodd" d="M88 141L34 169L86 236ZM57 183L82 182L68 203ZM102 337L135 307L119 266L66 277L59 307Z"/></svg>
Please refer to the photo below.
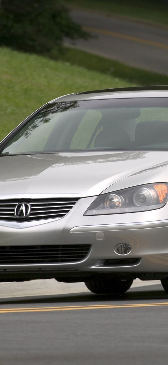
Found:
<svg viewBox="0 0 168 365"><path fill-rule="evenodd" d="M79 198L0 200L0 220L27 222L31 220L62 218L70 212L78 199ZM31 212L27 218L17 218L14 215L16 205L22 202L31 205Z"/></svg>

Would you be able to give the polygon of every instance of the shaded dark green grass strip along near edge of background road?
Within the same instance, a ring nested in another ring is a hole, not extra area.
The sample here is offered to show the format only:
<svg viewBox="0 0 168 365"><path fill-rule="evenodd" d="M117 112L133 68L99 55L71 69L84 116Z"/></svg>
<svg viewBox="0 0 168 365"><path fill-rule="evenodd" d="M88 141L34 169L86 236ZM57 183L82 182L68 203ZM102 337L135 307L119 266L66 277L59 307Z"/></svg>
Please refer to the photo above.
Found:
<svg viewBox="0 0 168 365"><path fill-rule="evenodd" d="M108 58L80 51L74 48L65 48L60 59L72 65L78 65L95 70L122 80L139 85L168 85L168 76L130 67Z"/></svg>

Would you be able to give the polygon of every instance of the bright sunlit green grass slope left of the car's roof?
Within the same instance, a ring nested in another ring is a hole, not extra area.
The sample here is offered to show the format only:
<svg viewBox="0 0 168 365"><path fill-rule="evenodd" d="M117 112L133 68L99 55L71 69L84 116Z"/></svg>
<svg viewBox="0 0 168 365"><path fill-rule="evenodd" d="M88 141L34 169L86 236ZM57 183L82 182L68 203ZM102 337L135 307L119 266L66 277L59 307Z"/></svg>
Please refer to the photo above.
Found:
<svg viewBox="0 0 168 365"><path fill-rule="evenodd" d="M72 92L135 84L123 78L70 65L69 62L52 61L2 47L0 85L1 140L34 110L55 97Z"/></svg>

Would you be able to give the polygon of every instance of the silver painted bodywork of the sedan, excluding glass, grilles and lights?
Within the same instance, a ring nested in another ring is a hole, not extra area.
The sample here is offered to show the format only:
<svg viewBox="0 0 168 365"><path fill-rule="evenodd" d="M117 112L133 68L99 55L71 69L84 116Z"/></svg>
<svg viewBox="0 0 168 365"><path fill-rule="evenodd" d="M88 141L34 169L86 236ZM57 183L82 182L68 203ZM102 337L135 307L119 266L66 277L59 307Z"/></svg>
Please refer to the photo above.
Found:
<svg viewBox="0 0 168 365"><path fill-rule="evenodd" d="M168 97L168 92L72 94L55 101L159 96ZM0 157L0 199L81 198L64 218L0 221L0 246L30 245L30 242L31 245L91 245L81 262L0 265L0 273L34 269L52 270L55 277L60 272L67 272L68 277L73 271L74 276L75 272L168 273L168 204L153 211L83 215L99 194L160 182L168 183L168 151L88 151ZM114 250L120 243L132 247L127 258L141 258L138 265L103 264L107 259L121 257Z"/></svg>

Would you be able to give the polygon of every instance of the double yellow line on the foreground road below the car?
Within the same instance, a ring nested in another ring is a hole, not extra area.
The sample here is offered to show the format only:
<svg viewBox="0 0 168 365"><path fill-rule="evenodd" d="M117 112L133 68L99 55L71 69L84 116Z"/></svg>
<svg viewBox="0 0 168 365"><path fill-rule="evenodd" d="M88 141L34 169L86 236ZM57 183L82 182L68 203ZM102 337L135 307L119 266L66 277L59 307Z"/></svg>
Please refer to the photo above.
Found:
<svg viewBox="0 0 168 365"><path fill-rule="evenodd" d="M163 303L145 303L145 304L97 304L91 306L64 306L64 307L27 307L27 308L2 308L2 313L24 313L24 312L52 312L52 311L73 311L87 309L115 309L115 308L141 308L141 307L163 307L168 306L168 302Z"/></svg>

